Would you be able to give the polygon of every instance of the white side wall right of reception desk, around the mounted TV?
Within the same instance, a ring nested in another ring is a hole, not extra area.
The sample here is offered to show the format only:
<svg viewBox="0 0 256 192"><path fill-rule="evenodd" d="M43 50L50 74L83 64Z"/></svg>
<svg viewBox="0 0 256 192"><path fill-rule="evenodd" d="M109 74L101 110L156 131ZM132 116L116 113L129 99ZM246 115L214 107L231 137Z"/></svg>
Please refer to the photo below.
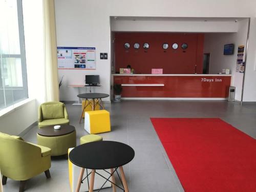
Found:
<svg viewBox="0 0 256 192"><path fill-rule="evenodd" d="M247 42L248 19L238 22L237 33L209 33L205 34L204 53L210 53L210 74L217 74L222 69L230 69L231 85L236 87L236 100L241 101L243 73L236 72L238 46ZM233 55L223 55L225 44L234 44ZM246 50L245 50L246 51Z"/></svg>

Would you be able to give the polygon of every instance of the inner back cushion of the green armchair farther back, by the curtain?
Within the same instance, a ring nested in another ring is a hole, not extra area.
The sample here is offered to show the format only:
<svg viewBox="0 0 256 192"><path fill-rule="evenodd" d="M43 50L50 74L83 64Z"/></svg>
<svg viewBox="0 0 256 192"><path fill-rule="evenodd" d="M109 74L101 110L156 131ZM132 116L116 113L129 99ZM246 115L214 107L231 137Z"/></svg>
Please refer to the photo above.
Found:
<svg viewBox="0 0 256 192"><path fill-rule="evenodd" d="M64 118L63 103L44 103L41 105L42 119L60 119Z"/></svg>

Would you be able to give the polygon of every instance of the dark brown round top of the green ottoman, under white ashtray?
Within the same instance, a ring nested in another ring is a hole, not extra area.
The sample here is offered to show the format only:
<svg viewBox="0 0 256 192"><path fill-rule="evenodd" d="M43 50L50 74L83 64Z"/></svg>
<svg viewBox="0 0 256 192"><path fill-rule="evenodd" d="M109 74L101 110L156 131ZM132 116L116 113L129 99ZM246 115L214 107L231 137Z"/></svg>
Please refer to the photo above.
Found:
<svg viewBox="0 0 256 192"><path fill-rule="evenodd" d="M53 126L46 126L40 128L37 133L38 135L45 136L45 137L56 137L61 135L68 135L75 131L75 127L72 125L60 125L60 129L55 130Z"/></svg>

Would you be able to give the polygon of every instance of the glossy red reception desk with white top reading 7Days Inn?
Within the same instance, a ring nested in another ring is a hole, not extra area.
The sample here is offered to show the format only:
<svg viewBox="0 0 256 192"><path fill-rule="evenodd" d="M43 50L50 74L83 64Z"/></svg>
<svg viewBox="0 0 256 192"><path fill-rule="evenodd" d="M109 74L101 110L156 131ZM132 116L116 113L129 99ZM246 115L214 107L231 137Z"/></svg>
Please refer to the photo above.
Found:
<svg viewBox="0 0 256 192"><path fill-rule="evenodd" d="M113 74L123 99L225 99L232 75Z"/></svg>

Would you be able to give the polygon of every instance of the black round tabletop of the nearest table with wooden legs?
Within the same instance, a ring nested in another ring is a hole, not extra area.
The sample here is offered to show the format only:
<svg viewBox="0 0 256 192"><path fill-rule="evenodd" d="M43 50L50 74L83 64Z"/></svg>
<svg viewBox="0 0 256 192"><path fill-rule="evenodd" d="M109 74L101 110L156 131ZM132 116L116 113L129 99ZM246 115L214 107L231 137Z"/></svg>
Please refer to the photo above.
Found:
<svg viewBox="0 0 256 192"><path fill-rule="evenodd" d="M75 147L69 154L72 163L90 169L109 169L133 160L132 147L116 141L96 141Z"/></svg>

